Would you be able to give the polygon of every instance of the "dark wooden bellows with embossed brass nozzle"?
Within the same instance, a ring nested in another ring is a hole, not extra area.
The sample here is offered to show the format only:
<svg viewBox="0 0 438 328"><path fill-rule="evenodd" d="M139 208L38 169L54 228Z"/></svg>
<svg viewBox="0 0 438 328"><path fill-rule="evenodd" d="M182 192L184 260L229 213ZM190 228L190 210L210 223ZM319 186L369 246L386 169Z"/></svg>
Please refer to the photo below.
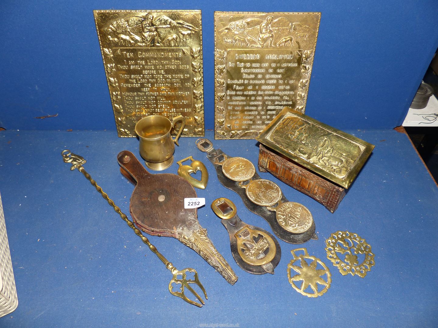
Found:
<svg viewBox="0 0 438 328"><path fill-rule="evenodd" d="M120 172L134 185L130 211L135 225L154 236L177 238L196 251L230 284L237 276L198 222L197 209L185 209L184 198L196 197L189 182L176 174L150 174L130 151L117 155Z"/></svg>

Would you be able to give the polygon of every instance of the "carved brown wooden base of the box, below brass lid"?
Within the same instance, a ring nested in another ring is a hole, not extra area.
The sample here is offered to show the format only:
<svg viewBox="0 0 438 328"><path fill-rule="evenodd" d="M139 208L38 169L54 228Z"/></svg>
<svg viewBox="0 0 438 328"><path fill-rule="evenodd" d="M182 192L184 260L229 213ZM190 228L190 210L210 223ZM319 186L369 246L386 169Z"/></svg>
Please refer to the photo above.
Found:
<svg viewBox="0 0 438 328"><path fill-rule="evenodd" d="M346 189L262 144L258 155L258 169L261 172L271 173L292 188L312 197L332 213L336 211L346 193Z"/></svg>

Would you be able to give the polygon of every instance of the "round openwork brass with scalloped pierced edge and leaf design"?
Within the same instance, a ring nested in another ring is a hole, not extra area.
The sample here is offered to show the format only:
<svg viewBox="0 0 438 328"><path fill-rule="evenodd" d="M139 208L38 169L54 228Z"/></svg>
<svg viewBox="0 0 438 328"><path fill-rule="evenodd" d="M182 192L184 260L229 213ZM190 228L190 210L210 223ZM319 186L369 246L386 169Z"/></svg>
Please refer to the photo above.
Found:
<svg viewBox="0 0 438 328"><path fill-rule="evenodd" d="M327 258L343 276L364 278L374 265L374 254L364 238L348 231L337 231L325 241Z"/></svg>

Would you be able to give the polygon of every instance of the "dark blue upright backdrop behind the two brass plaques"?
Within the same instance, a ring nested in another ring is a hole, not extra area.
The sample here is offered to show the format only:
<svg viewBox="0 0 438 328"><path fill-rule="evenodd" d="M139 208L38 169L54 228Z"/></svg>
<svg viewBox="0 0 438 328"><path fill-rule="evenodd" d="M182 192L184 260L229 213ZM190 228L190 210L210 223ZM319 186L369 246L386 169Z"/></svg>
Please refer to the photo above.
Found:
<svg viewBox="0 0 438 328"><path fill-rule="evenodd" d="M207 129L213 127L215 10L321 12L307 114L339 129L400 125L438 45L436 0L6 0L0 127L116 129L93 9L202 10Z"/></svg>

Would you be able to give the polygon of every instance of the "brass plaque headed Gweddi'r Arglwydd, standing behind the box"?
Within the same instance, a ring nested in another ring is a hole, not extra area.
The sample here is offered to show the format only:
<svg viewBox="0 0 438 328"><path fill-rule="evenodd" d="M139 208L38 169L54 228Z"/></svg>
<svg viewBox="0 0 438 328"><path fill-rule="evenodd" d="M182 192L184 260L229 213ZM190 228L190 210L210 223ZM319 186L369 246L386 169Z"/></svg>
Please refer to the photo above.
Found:
<svg viewBox="0 0 438 328"><path fill-rule="evenodd" d="M215 139L254 139L304 113L321 13L215 12Z"/></svg>

